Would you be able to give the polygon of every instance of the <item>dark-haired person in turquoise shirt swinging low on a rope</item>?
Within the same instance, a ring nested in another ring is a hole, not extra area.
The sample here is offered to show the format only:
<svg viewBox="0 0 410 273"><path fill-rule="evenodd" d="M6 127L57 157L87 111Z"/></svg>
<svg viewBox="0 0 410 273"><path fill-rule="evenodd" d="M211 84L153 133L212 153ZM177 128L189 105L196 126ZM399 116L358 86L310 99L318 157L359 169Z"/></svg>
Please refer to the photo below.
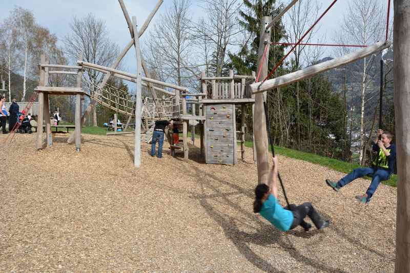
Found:
<svg viewBox="0 0 410 273"><path fill-rule="evenodd" d="M276 156L273 158L273 162L274 165L269 175L269 185L259 184L255 188L253 212L259 213L260 216L283 232L298 225L302 226L306 232L309 231L312 226L304 221L306 216L309 216L317 229L329 226L329 221L324 221L309 202L299 206L291 204L289 207L282 207L279 204L277 188L278 159Z"/></svg>

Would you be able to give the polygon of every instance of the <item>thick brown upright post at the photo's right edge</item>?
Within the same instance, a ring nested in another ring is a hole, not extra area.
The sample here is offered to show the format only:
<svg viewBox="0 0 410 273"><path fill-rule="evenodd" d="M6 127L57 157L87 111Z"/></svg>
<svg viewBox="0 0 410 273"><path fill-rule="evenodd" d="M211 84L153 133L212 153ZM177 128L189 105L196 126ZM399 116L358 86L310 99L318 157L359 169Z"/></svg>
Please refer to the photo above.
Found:
<svg viewBox="0 0 410 273"><path fill-rule="evenodd" d="M394 106L397 151L395 272L410 272L410 3L394 1Z"/></svg>

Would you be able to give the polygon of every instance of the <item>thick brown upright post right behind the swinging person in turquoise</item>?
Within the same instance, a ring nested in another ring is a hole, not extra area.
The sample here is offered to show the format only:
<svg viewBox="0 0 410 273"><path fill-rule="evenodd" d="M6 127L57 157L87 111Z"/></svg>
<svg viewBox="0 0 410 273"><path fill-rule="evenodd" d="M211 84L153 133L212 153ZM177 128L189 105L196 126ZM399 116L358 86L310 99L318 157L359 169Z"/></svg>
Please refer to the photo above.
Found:
<svg viewBox="0 0 410 273"><path fill-rule="evenodd" d="M264 16L260 20L260 42L258 51L258 66L257 71L261 68L260 79L263 80L268 75L268 60L269 60L269 45L271 43L271 31L265 29L271 22L272 17ZM266 56L263 57L265 45L268 45ZM264 60L262 62L262 59ZM266 92L255 95L255 113L253 120L253 128L255 135L256 146L256 161L258 168L258 184L268 184L269 175L269 157L268 157L268 135L266 130L266 121L263 102L266 101ZM258 130L255 130L257 128Z"/></svg>

